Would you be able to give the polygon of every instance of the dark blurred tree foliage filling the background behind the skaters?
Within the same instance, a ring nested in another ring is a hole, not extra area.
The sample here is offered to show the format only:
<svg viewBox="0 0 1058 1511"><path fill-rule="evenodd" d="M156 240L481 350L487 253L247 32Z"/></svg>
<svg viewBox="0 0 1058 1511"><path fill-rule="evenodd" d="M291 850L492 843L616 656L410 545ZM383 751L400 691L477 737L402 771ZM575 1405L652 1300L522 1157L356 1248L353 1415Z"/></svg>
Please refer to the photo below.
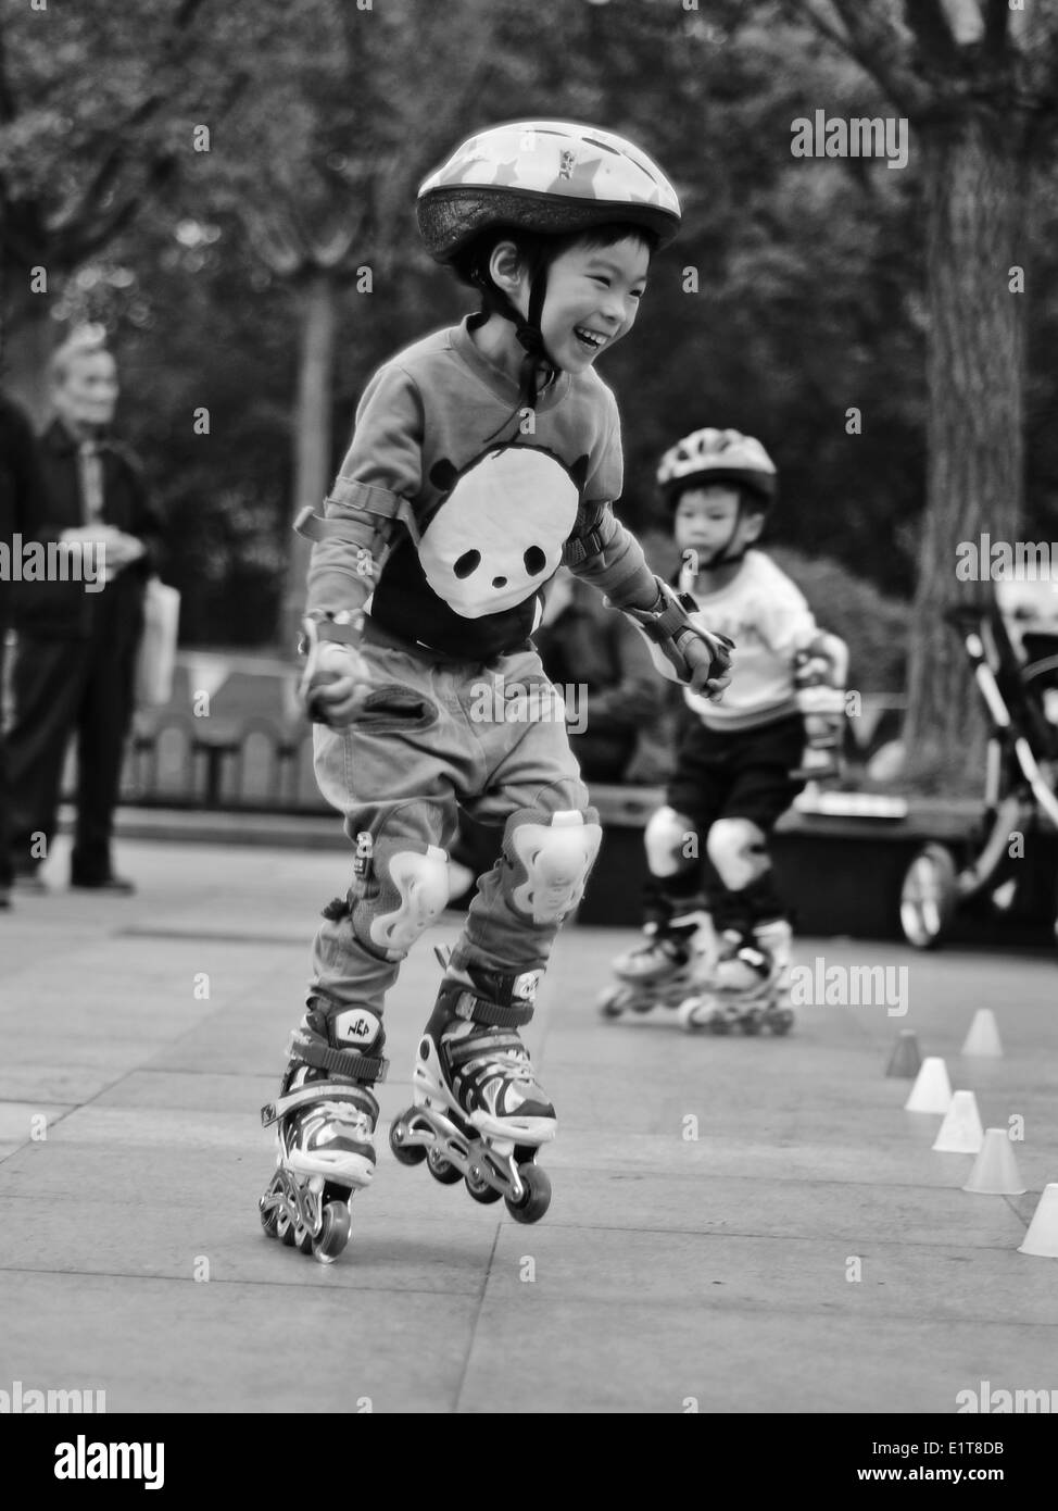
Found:
<svg viewBox="0 0 1058 1511"><path fill-rule="evenodd" d="M623 414L620 512L647 530L660 452L700 425L737 426L780 468L779 542L909 595L927 482L921 183L789 150L791 122L817 106L890 109L868 66L878 35L863 30L881 21L909 48L915 86L931 86L942 63L912 47L895 0L133 0L41 14L0 0L5 316L26 319L24 267L47 260L51 334L86 317L112 329L122 426L172 521L187 638L273 633L306 269L338 280L337 465L371 370L469 307L420 246L415 186L460 136L521 115L626 131L685 204L637 328L601 364ZM1014 95L1046 85L1038 50L1029 65ZM192 150L196 122L211 127L210 153ZM1043 526L1058 473L1058 192L1046 162L1037 178L1026 515ZM364 264L370 293L356 287ZM201 409L208 435L193 429Z"/></svg>

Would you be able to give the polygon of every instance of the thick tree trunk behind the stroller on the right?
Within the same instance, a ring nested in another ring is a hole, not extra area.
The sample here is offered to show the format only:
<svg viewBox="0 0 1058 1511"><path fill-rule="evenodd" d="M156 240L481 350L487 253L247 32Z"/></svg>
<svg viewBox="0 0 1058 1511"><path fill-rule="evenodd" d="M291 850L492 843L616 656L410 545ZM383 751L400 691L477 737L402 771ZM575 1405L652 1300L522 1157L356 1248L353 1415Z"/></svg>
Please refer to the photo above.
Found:
<svg viewBox="0 0 1058 1511"><path fill-rule="evenodd" d="M976 783L984 721L943 609L987 603L957 579L960 541L1014 541L1023 502L1026 153L986 113L921 127L925 145L930 340L928 482L909 665L909 771L946 790ZM987 561L981 577L987 579Z"/></svg>

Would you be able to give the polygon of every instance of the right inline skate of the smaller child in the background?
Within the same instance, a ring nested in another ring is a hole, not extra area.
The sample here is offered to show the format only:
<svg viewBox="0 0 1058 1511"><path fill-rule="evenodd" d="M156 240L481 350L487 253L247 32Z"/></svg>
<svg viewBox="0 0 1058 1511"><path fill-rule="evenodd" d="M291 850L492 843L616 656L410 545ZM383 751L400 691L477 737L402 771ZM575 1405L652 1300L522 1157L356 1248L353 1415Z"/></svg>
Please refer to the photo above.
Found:
<svg viewBox="0 0 1058 1511"><path fill-rule="evenodd" d="M711 975L679 1006L688 1032L788 1034L794 1024L789 1000L791 928L785 919L758 923L752 932L726 929Z"/></svg>

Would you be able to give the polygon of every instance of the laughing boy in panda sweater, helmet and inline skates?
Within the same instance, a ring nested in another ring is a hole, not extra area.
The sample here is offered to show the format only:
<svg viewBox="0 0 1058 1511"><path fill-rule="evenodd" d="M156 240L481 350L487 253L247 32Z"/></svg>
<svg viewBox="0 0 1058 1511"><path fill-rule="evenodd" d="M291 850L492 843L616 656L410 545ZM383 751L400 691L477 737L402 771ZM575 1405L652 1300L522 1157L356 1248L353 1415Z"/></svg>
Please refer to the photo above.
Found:
<svg viewBox="0 0 1058 1511"><path fill-rule="evenodd" d="M459 807L503 825L420 1040L403 1163L534 1222L555 1109L519 1029L601 830L530 636L561 564L647 635L669 674L715 698L727 654L614 518L620 420L593 363L632 326L654 251L679 225L655 163L608 131L530 121L471 138L426 180L430 255L481 307L368 382L308 583L303 694L315 772L356 845L324 911L308 1012L279 1098L261 1219L334 1259L350 1191L374 1171L382 1006L448 898ZM525 722L481 718L483 681L537 689Z"/></svg>

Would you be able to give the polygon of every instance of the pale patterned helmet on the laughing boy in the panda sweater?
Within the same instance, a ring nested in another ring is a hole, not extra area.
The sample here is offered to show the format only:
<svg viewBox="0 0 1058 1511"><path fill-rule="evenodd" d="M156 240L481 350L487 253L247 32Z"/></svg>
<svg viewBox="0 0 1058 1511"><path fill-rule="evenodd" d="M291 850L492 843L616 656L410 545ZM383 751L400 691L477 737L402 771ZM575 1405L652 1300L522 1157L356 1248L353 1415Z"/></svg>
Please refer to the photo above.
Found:
<svg viewBox="0 0 1058 1511"><path fill-rule="evenodd" d="M613 222L672 242L679 199L623 136L574 121L507 121L462 142L420 187L426 249L448 263L494 225L561 236Z"/></svg>

